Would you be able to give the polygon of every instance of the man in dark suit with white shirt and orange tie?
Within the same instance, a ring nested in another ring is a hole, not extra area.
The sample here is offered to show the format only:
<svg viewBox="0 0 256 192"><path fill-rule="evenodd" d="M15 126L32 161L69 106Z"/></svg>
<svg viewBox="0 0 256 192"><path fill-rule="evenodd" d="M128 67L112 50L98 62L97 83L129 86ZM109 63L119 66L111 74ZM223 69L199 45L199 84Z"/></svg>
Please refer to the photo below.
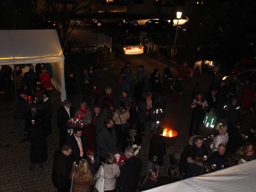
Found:
<svg viewBox="0 0 256 192"><path fill-rule="evenodd" d="M78 162L82 158L86 158L86 140L84 136L82 135L82 129L80 127L75 127L73 129L74 133L68 137L66 143L69 143L72 145L72 153L71 153L71 158L73 161Z"/></svg>

